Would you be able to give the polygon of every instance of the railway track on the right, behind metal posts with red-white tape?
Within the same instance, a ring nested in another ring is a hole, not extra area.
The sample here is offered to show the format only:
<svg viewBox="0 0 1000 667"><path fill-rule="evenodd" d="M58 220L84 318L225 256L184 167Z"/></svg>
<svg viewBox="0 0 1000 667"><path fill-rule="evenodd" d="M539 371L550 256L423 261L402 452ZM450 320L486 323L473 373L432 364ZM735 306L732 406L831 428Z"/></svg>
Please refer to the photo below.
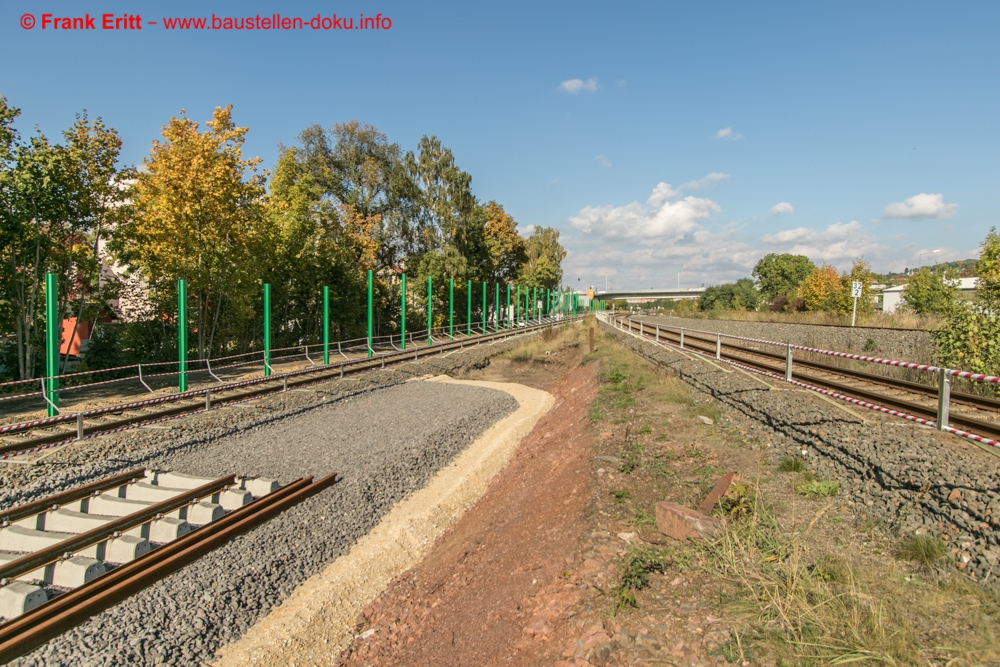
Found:
<svg viewBox="0 0 1000 667"><path fill-rule="evenodd" d="M791 348L782 354L751 348L724 335L691 332L623 316L615 316L613 321L615 326L644 339L717 358L778 379L788 377L792 368L789 366ZM941 413L939 387L800 357L794 358L794 369L794 381L803 386L853 399L863 407L882 408L882 412L913 417L920 423L937 426L936 420ZM960 410L945 411L945 426L948 428L942 430L960 431L959 435L968 433L975 436L973 439L985 440L988 444L1000 440L1000 401L954 390L949 391L948 397L951 404L960 406Z"/></svg>

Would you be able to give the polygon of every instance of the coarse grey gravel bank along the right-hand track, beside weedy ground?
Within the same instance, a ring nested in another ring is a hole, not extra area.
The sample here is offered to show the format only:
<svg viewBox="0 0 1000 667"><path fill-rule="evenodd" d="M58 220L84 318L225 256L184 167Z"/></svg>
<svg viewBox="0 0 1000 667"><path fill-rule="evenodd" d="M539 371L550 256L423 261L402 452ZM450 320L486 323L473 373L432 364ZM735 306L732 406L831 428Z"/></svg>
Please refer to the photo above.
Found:
<svg viewBox="0 0 1000 667"><path fill-rule="evenodd" d="M971 577L996 582L1000 576L1000 457L955 436L852 408L863 423L780 380L766 380L783 389L771 391L747 374L724 373L601 326L729 406L728 417L772 440L776 455L805 449L809 468L840 481L841 496L857 517L879 517L899 534L941 535Z"/></svg>

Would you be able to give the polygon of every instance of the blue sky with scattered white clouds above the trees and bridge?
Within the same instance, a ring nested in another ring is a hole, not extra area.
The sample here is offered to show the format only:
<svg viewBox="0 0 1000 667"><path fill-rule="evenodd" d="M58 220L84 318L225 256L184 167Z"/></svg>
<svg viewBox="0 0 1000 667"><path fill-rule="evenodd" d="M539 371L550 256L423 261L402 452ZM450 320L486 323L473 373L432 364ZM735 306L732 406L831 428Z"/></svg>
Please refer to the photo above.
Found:
<svg viewBox="0 0 1000 667"><path fill-rule="evenodd" d="M392 27L41 29L86 12ZM480 199L561 230L567 284L694 286L767 252L880 271L975 256L1000 221L998 19L997 2L6 0L0 94L24 135L103 117L126 164L182 108L233 104L267 166L312 123L404 149L436 135Z"/></svg>

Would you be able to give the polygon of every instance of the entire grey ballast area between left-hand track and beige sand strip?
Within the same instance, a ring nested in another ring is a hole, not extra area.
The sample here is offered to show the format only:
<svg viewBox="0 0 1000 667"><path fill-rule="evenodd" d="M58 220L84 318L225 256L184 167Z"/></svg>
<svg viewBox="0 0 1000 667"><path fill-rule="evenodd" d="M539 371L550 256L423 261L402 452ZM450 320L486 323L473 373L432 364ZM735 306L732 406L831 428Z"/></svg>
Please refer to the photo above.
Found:
<svg viewBox="0 0 1000 667"><path fill-rule="evenodd" d="M342 480L12 664L212 660L219 646L346 553L394 503L517 406L491 389L406 380L480 367L518 342L101 438L38 466L8 466L0 507L136 466L208 477L255 474L282 483L336 471Z"/></svg>

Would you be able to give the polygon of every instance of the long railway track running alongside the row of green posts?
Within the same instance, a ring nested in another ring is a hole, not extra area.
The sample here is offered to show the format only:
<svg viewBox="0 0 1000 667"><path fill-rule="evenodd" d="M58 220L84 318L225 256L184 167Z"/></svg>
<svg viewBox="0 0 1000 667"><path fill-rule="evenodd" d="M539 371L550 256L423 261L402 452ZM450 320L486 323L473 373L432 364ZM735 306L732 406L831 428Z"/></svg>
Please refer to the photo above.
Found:
<svg viewBox="0 0 1000 667"><path fill-rule="evenodd" d="M100 435L155 424L178 416L209 410L303 387L331 378L357 375L377 368L426 357L448 354L470 345L490 344L548 326L575 321L573 318L542 320L529 326L491 333L460 334L454 340L417 345L412 349L376 353L372 357L343 359L327 365L276 373L269 377L222 382L184 393L130 401L118 405L64 412L55 417L0 425L0 461L86 440Z"/></svg>

